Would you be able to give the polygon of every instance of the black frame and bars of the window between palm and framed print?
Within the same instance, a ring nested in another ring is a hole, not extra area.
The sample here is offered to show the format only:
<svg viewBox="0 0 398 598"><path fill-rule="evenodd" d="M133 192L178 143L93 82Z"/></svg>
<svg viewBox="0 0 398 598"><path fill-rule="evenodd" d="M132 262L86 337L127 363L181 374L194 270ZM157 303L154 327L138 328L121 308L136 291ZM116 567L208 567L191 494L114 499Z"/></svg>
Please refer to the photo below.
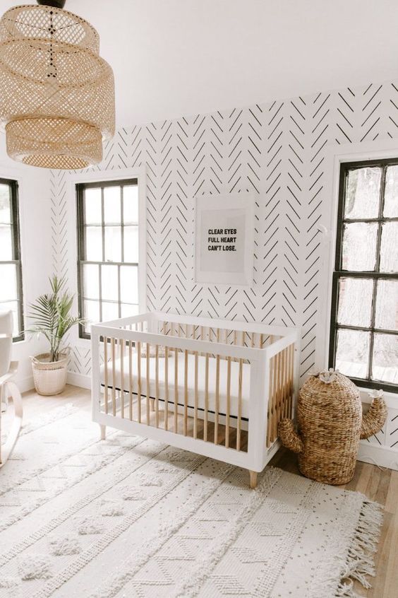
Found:
<svg viewBox="0 0 398 598"><path fill-rule="evenodd" d="M77 213L77 240L78 240L78 264L77 264L77 271L78 271L78 310L79 310L79 317L83 318L84 315L84 295L83 295L83 265L84 264L113 264L118 266L118 278L120 281L120 267L121 266L138 266L138 262L124 262L123 258L123 247L124 247L124 222L123 222L123 187L136 185L138 187L138 178L128 178L128 179L120 179L120 180L104 180L104 181L95 181L95 182L81 182L76 184L76 213ZM102 203L102 257L104 259L104 189L107 187L121 187L121 262L107 262L106 260L102 262L93 262L88 261L85 259L85 202L84 202L84 192L85 189L95 189L99 188L102 189L101 192L101 203ZM138 218L140 218L140 213L138 213ZM140 223L138 225L138 235ZM100 319L102 318L102 284L101 284L101 268L100 268L100 279L99 279L99 299L98 302L100 304ZM119 317L121 317L121 300L120 300L121 288L119 283L118 289L118 296L119 300L116 302L108 302L108 303L118 303L119 305ZM80 339L91 339L91 335L88 332L85 332L85 327L83 324L79 323L79 338Z"/></svg>

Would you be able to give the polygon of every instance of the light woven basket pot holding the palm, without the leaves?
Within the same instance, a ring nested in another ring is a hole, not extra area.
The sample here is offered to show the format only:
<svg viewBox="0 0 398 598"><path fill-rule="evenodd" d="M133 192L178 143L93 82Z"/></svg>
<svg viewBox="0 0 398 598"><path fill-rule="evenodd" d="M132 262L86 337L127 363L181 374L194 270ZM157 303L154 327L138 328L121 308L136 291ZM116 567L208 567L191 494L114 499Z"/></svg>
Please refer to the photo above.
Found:
<svg viewBox="0 0 398 598"><path fill-rule="evenodd" d="M30 358L36 392L44 397L59 394L65 388L69 351L59 355L61 359L58 361L49 361L49 353Z"/></svg>

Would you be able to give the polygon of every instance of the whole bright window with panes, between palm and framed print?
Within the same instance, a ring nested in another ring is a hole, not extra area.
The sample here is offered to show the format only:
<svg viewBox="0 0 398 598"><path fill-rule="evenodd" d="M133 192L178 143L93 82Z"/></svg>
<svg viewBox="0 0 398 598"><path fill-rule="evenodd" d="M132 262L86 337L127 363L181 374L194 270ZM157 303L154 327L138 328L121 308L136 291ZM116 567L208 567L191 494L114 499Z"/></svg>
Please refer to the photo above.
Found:
<svg viewBox="0 0 398 598"><path fill-rule="evenodd" d="M80 336L138 314L138 182L78 184Z"/></svg>

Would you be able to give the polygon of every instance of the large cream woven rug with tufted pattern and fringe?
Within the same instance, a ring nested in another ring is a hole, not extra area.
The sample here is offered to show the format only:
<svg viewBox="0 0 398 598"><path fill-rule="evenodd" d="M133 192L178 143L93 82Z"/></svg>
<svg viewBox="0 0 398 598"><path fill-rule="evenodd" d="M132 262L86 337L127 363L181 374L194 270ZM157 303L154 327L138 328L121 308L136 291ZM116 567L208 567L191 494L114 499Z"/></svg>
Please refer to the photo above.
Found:
<svg viewBox="0 0 398 598"><path fill-rule="evenodd" d="M1 598L333 598L367 584L382 515L358 493L98 426L30 423L0 470ZM366 576L366 577L364 577Z"/></svg>

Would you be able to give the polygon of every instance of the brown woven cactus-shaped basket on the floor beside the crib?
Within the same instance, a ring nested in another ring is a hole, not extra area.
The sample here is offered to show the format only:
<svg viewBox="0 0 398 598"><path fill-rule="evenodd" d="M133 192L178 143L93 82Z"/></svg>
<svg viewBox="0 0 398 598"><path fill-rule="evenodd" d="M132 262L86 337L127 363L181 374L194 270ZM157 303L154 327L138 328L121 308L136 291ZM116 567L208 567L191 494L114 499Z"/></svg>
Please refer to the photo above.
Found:
<svg viewBox="0 0 398 598"><path fill-rule="evenodd" d="M310 376L297 404L298 433L291 420L279 424L282 444L298 452L301 473L323 483L342 484L354 476L360 438L382 428L385 401L374 399L362 415L359 391L346 376L334 373L332 382Z"/></svg>

